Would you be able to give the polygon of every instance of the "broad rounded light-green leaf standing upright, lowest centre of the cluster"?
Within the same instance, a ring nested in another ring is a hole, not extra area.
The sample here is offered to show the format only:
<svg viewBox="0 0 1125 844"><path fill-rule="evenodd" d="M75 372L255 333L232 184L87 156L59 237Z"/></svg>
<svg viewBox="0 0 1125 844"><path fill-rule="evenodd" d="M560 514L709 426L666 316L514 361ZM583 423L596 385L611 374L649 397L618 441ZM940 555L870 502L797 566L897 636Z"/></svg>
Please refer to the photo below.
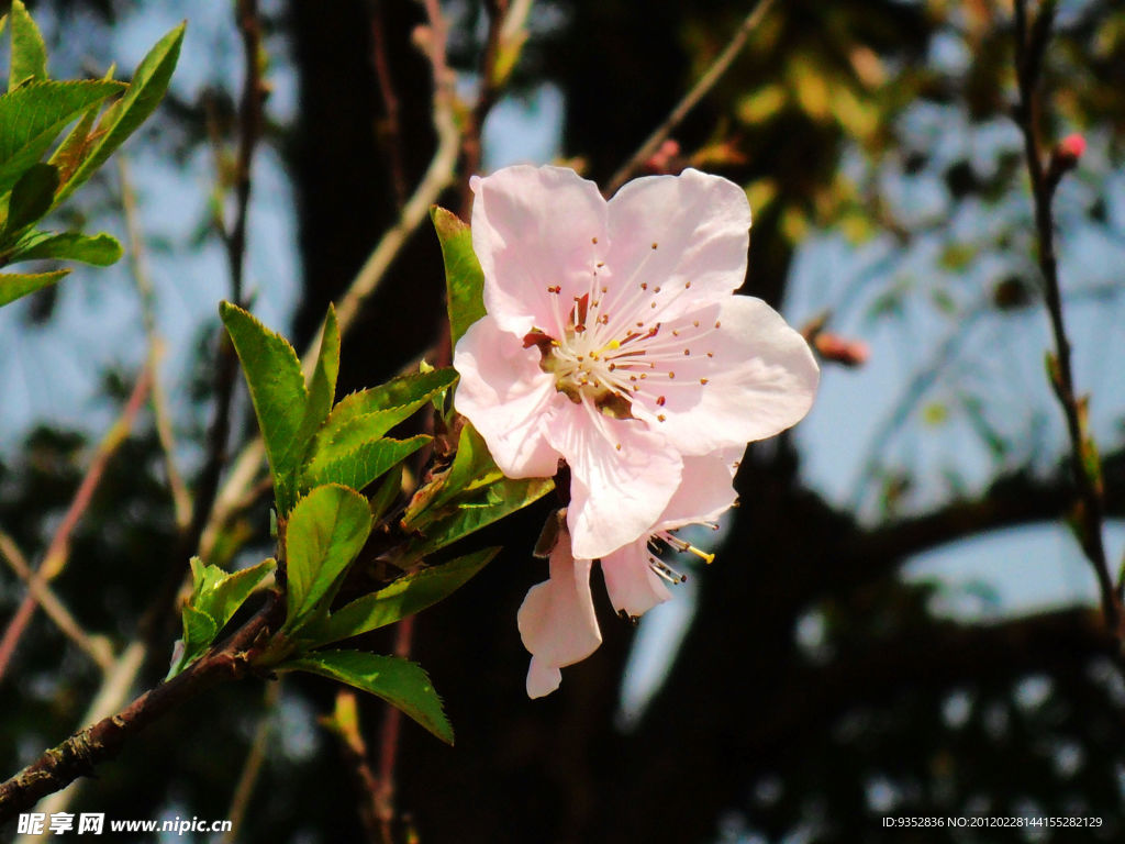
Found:
<svg viewBox="0 0 1125 844"><path fill-rule="evenodd" d="M348 566L371 532L367 499L344 486L318 486L297 502L286 527L288 613L295 630L332 600Z"/></svg>

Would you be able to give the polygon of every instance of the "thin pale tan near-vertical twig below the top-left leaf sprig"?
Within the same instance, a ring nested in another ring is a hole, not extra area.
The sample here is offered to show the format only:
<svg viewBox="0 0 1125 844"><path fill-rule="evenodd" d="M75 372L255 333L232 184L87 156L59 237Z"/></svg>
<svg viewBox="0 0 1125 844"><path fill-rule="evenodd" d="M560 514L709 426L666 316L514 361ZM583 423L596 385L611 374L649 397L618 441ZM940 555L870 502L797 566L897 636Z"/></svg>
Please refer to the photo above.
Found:
<svg viewBox="0 0 1125 844"><path fill-rule="evenodd" d="M145 335L148 339L148 369L152 371L152 411L156 420L156 437L160 439L160 447L164 452L164 472L168 474L168 487L172 495L172 506L176 509L176 523L180 530L183 530L191 521L191 495L183 483L183 475L180 473L176 459L176 436L172 433L168 395L164 393L164 383L160 377L164 340L156 326L155 291L136 210L136 194L129 177L128 161L123 154L117 155L117 178L122 188L122 215L125 217L125 230L129 239L129 267L133 280L137 286L137 293L141 295L141 314Z"/></svg>

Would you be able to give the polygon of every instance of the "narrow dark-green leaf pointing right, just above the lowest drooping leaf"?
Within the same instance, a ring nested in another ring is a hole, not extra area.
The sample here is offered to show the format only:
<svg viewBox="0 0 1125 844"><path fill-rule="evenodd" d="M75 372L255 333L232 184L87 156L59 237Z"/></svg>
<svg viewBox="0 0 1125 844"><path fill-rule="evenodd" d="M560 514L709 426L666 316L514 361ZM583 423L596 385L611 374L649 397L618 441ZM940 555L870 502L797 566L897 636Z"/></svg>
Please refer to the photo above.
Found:
<svg viewBox="0 0 1125 844"><path fill-rule="evenodd" d="M328 645L370 632L438 603L484 568L500 548L485 548L433 568L399 577L389 586L363 595L306 629L306 647Z"/></svg>

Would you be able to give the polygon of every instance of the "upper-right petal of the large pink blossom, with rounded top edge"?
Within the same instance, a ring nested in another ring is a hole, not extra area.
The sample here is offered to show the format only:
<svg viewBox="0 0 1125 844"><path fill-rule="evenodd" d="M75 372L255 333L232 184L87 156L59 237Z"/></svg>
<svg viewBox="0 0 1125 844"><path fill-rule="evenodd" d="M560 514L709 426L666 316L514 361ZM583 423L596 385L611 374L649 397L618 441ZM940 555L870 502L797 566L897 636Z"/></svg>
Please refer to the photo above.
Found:
<svg viewBox="0 0 1125 844"><path fill-rule="evenodd" d="M634 179L610 200L609 225L611 320L616 304L633 300L642 282L645 317L670 320L721 300L746 279L750 206L727 179L691 169Z"/></svg>

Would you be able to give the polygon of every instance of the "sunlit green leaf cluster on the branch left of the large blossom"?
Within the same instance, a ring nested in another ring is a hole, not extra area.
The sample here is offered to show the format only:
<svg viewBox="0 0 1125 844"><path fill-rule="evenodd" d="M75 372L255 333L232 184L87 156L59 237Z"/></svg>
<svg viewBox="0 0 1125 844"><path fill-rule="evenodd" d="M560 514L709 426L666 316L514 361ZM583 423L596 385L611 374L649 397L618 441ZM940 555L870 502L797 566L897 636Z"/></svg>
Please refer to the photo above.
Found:
<svg viewBox="0 0 1125 844"><path fill-rule="evenodd" d="M483 273L468 226L432 214L446 261L450 333L456 342L484 313ZM335 401L340 327L330 307L315 363L245 309L219 314L242 363L273 482L278 555L234 574L195 560L195 589L183 607L183 638L172 674L202 656L253 590L273 573L286 617L259 664L304 671L376 694L446 742L453 734L425 672L414 663L358 649L330 648L448 596L500 550L485 548L440 565L431 555L530 504L552 488L547 478L513 481L496 467L482 437L452 410L457 372L423 363L417 371ZM434 434L390 436L420 411ZM430 449L424 483L404 499L406 463ZM402 572L384 589L339 599L360 560Z"/></svg>

